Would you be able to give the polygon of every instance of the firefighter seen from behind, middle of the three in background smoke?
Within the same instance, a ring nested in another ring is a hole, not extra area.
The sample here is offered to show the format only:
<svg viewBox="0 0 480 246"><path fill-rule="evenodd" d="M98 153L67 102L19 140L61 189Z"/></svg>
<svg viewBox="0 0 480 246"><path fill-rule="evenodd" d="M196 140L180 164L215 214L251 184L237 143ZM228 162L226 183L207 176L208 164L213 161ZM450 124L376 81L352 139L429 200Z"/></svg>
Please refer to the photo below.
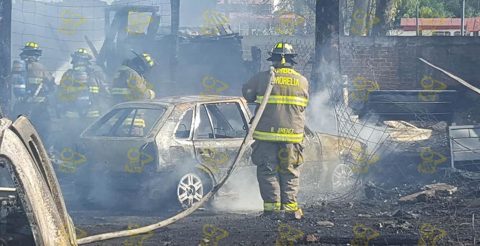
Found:
<svg viewBox="0 0 480 246"><path fill-rule="evenodd" d="M106 91L106 85L102 72L91 67L88 50L78 48L71 56L73 66L60 81L59 111L63 131L79 136L86 126L100 118L100 92Z"/></svg>

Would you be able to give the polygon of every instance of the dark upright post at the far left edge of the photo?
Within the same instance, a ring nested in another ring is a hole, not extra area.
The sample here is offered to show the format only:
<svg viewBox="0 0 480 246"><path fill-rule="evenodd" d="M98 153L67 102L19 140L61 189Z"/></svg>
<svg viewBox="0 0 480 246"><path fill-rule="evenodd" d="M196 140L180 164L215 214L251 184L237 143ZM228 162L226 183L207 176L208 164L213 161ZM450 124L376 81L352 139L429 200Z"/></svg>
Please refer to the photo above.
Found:
<svg viewBox="0 0 480 246"><path fill-rule="evenodd" d="M0 0L0 107L10 113L11 67L10 43L12 39L12 0Z"/></svg>

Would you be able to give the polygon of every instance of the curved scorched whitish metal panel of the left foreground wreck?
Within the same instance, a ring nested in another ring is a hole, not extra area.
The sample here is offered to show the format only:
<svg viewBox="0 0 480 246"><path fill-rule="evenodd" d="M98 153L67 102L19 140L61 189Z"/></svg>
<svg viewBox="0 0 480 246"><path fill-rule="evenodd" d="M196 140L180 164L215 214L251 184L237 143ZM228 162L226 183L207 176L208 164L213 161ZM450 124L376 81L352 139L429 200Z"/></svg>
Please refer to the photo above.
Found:
<svg viewBox="0 0 480 246"><path fill-rule="evenodd" d="M0 166L13 180L35 244L77 245L53 166L38 133L23 115L15 122L0 118Z"/></svg>

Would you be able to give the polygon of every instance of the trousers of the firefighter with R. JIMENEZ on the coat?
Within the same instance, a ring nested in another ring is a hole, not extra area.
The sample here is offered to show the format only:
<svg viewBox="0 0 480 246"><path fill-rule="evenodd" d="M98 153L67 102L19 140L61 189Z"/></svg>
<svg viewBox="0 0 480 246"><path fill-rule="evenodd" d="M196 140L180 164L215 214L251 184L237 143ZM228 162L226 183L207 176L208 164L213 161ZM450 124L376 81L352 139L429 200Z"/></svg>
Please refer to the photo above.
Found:
<svg viewBox="0 0 480 246"><path fill-rule="evenodd" d="M297 211L303 144L256 140L252 149L264 211Z"/></svg>

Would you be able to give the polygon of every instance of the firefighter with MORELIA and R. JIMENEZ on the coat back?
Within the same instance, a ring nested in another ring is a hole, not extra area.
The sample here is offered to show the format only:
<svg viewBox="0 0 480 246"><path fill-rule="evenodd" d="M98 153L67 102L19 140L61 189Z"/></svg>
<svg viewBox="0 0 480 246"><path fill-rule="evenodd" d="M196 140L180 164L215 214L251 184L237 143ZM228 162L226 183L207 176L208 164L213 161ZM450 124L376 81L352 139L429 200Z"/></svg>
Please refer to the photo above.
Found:
<svg viewBox="0 0 480 246"><path fill-rule="evenodd" d="M268 54L271 57L267 61L272 62L275 68L275 81L265 111L253 133L252 162L257 166L263 215L272 219L300 219L298 167L303 162L308 81L293 68L297 64L294 60L297 54L290 43L279 42ZM245 99L258 106L269 82L269 71L255 75L243 85ZM279 168L285 159L289 159L289 165Z"/></svg>

